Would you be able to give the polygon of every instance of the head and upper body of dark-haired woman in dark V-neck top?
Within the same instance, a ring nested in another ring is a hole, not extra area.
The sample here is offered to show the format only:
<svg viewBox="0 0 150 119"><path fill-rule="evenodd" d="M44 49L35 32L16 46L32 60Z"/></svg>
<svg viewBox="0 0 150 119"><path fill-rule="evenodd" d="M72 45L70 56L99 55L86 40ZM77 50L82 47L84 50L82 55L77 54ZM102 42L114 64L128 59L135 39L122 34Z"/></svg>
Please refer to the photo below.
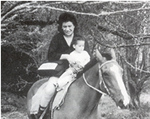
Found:
<svg viewBox="0 0 150 119"><path fill-rule="evenodd" d="M48 61L57 62L59 65L57 69L58 74L55 75L57 77L59 77L69 66L68 61L71 62L72 60L72 58L69 57L69 54L74 50L72 43L74 37L78 35L77 21L73 14L61 14L58 24L59 33L53 37L48 50ZM85 50L89 53L87 42L85 42Z"/></svg>

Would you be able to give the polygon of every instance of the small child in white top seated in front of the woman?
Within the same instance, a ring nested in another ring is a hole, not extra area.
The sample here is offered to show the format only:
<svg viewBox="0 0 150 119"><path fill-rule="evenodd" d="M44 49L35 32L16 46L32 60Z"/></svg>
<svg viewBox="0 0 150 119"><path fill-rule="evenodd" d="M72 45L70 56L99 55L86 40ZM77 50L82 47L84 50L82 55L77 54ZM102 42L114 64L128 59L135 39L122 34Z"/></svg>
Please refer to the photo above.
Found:
<svg viewBox="0 0 150 119"><path fill-rule="evenodd" d="M84 50L84 44L85 40L82 37L75 37L75 41L73 42L75 50L70 53L71 62L69 68L57 81L59 88L67 84L72 78L75 78L76 74L82 71L84 66L90 61L88 52Z"/></svg>

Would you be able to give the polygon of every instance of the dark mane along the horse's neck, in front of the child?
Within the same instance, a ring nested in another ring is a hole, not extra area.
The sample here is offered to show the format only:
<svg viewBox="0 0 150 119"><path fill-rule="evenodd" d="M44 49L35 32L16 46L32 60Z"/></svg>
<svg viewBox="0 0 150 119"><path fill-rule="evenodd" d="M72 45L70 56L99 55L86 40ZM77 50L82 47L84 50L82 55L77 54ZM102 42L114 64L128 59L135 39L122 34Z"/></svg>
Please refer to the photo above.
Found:
<svg viewBox="0 0 150 119"><path fill-rule="evenodd" d="M94 66L97 63L96 58L93 58L89 63L87 63L83 69L83 71L79 72L77 75L77 79L87 70L89 70L92 66Z"/></svg>

